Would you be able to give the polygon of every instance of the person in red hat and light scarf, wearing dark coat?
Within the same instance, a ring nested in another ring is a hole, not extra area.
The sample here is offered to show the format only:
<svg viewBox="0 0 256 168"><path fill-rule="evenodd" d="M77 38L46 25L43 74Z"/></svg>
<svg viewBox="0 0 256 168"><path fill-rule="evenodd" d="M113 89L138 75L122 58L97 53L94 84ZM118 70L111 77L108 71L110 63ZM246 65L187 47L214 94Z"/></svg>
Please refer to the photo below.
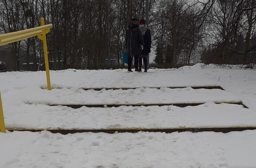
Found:
<svg viewBox="0 0 256 168"><path fill-rule="evenodd" d="M143 49L138 57L139 59L139 70L141 72L141 67L142 67L142 58L143 58L143 63L144 63L144 72L148 72L148 53L150 53L150 49L151 49L151 33L150 33L150 29L148 29L147 25L146 25L146 21L144 19L140 20L140 30L142 32L143 35L143 41L144 41L144 45L143 45Z"/></svg>

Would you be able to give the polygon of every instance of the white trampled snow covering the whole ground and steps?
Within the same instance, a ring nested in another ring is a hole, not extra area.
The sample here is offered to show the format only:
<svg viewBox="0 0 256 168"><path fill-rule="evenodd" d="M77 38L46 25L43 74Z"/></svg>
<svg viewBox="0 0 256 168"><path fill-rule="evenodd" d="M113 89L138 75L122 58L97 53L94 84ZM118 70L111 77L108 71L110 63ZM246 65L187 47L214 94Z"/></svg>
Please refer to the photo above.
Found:
<svg viewBox="0 0 256 168"><path fill-rule="evenodd" d="M196 64L148 72L0 73L6 128L109 129L256 127L256 73ZM193 86L221 86L193 89ZM136 88L83 90L81 88ZM154 88L160 87L160 89ZM171 89L168 87L186 87ZM85 107L47 104L202 103L197 106ZM236 104L214 102L242 102ZM255 168L256 130L217 132L0 133L0 168Z"/></svg>

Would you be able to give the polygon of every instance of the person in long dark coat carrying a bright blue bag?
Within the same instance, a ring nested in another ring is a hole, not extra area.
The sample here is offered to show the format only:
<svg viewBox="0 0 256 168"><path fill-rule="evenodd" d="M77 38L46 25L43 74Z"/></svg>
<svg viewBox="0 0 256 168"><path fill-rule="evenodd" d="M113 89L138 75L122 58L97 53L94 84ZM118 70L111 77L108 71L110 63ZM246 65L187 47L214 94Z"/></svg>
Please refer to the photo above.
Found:
<svg viewBox="0 0 256 168"><path fill-rule="evenodd" d="M135 70L139 71L138 56L142 51L141 45L144 44L144 41L141 30L139 28L138 20L136 18L133 18L128 25L128 30L126 31L125 36L125 44L128 54L128 71L132 72L132 57L134 57Z"/></svg>

